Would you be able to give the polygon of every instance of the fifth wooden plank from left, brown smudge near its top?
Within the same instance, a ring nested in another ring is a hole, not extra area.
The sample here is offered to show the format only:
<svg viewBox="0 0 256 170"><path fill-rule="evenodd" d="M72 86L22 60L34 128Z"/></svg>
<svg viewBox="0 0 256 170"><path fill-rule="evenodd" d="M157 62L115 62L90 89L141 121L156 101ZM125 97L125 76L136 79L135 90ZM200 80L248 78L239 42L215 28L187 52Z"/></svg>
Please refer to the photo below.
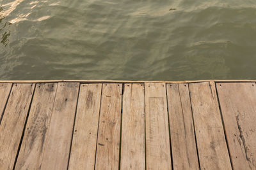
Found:
<svg viewBox="0 0 256 170"><path fill-rule="evenodd" d="M68 169L94 169L102 84L80 86Z"/></svg>

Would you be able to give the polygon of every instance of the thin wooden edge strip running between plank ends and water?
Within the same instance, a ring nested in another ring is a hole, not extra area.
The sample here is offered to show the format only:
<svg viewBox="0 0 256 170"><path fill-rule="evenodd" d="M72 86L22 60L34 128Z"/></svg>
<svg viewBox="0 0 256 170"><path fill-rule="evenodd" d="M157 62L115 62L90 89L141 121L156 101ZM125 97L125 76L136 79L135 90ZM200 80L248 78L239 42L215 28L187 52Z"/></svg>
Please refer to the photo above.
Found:
<svg viewBox="0 0 256 170"><path fill-rule="evenodd" d="M0 80L0 83L200 83L205 81L214 82L255 82L256 80L184 80L184 81L130 81L130 80Z"/></svg>

